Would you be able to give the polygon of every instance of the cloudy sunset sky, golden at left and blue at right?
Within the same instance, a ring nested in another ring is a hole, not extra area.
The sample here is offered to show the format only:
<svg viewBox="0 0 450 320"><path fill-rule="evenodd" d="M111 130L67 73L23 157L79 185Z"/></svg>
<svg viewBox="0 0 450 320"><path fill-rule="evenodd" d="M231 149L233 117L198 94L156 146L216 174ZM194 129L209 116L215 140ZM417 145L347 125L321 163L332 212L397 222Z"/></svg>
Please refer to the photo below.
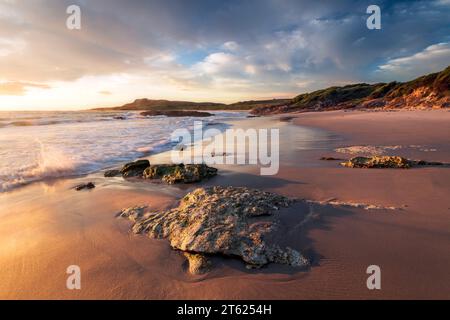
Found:
<svg viewBox="0 0 450 320"><path fill-rule="evenodd" d="M291 98L448 65L450 0L0 0L0 111Z"/></svg>

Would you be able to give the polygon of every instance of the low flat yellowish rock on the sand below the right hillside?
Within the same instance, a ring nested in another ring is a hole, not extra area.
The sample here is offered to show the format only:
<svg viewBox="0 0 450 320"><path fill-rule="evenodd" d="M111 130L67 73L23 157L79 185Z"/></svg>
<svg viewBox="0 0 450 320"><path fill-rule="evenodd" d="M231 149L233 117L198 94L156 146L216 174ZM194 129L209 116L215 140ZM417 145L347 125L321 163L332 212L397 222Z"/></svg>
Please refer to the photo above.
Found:
<svg viewBox="0 0 450 320"><path fill-rule="evenodd" d="M347 162L341 163L349 168L401 168L408 169L414 165L414 162L397 156L373 156L373 157L355 157Z"/></svg>

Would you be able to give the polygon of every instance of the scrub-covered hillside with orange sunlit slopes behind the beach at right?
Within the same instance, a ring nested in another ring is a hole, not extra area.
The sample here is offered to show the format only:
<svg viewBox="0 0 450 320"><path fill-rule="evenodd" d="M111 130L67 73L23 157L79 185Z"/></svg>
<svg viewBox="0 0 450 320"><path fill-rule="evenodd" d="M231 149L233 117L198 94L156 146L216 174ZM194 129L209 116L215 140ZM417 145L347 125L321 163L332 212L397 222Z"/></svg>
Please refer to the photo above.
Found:
<svg viewBox="0 0 450 320"><path fill-rule="evenodd" d="M408 82L358 83L298 95L284 105L261 106L252 114L266 115L337 109L431 109L450 107L450 66Z"/></svg>

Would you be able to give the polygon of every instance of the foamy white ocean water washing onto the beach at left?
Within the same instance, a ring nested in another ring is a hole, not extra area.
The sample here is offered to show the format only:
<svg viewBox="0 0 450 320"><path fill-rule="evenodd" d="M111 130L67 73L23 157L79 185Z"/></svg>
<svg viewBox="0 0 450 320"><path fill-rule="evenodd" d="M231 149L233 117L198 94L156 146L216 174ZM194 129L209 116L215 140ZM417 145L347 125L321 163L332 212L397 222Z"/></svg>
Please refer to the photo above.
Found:
<svg viewBox="0 0 450 320"><path fill-rule="evenodd" d="M172 132L194 121L225 128L246 112L209 118L139 112L0 112L0 192L46 178L88 174L173 147Z"/></svg>

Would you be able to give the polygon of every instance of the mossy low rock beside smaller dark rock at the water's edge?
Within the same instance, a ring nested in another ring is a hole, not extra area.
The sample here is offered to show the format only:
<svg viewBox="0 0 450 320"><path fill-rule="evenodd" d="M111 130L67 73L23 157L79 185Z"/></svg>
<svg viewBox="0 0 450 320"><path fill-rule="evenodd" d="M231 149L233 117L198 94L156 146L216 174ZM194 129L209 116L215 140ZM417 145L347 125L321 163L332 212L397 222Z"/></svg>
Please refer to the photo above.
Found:
<svg viewBox="0 0 450 320"><path fill-rule="evenodd" d="M194 183L217 175L217 169L206 164L159 164L145 169L145 179L161 179L168 184Z"/></svg>

